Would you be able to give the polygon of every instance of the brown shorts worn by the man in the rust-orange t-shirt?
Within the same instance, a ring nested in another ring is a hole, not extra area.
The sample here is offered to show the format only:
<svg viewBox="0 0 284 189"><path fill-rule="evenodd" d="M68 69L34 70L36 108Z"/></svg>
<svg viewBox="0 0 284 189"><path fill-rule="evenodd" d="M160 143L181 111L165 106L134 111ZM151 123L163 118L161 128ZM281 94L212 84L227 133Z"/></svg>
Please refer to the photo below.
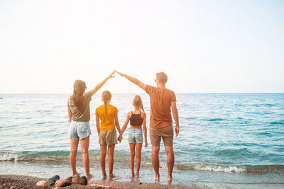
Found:
<svg viewBox="0 0 284 189"><path fill-rule="evenodd" d="M163 138L165 146L173 146L173 125L154 129L150 127L150 139L152 146L160 146L160 138Z"/></svg>

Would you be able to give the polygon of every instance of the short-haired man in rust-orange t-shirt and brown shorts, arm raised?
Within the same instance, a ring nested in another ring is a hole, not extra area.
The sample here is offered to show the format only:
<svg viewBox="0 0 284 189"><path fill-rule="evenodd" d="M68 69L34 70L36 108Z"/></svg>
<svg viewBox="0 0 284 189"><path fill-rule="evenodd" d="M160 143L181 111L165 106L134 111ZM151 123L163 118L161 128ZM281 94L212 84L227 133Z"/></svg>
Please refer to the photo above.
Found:
<svg viewBox="0 0 284 189"><path fill-rule="evenodd" d="M122 74L121 76L129 79L133 84L141 87L150 96L151 113L150 113L150 139L152 144L152 164L155 171L155 180L160 180L159 173L159 151L160 138L163 139L165 152L167 153L168 164L168 181L172 181L173 165L175 164L175 156L173 153L173 120L170 113L172 108L173 118L175 119L175 137L178 137L180 125L178 122L178 109L176 107L175 93L165 88L168 76L164 72L156 74L155 83L158 87L143 84L136 78Z"/></svg>

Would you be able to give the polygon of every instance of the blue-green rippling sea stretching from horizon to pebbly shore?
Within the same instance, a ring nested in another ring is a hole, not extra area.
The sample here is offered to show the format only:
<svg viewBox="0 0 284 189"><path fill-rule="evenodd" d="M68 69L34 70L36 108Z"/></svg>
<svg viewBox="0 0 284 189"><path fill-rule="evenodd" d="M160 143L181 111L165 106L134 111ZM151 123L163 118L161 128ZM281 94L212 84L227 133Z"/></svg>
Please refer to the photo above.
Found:
<svg viewBox="0 0 284 189"><path fill-rule="evenodd" d="M133 109L134 93L114 93L122 127ZM150 99L141 96L149 130ZM67 99L70 94L0 94L0 174L50 178L72 175ZM173 183L207 188L284 188L284 93L177 93L180 134L174 138ZM90 103L89 143L92 180L102 179L95 109ZM174 122L175 127L175 122ZM129 128L129 126L128 126ZM114 150L116 181L130 178L127 132ZM160 144L160 183L167 182L167 160ZM106 165L107 166L107 165ZM108 170L108 167L107 167ZM80 145L77 171L84 175ZM142 148L138 181L154 183L151 142Z"/></svg>

